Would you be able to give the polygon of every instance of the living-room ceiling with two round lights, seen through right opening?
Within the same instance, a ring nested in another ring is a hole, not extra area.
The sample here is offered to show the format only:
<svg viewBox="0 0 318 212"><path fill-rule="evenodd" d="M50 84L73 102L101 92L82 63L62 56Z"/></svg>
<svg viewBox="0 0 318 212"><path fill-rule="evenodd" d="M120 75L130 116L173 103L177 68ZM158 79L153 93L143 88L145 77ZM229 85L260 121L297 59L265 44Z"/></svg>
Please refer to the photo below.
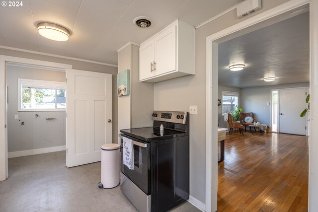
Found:
<svg viewBox="0 0 318 212"><path fill-rule="evenodd" d="M219 84L257 87L309 82L309 12L219 44ZM243 71L229 66L245 64ZM264 82L264 77L276 77Z"/></svg>

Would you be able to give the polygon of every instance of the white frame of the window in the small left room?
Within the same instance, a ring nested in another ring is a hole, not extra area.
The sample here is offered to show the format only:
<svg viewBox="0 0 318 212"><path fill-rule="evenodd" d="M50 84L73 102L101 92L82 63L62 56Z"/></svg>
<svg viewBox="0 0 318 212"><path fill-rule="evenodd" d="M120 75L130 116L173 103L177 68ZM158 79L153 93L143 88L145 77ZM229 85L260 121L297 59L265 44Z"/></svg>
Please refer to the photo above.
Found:
<svg viewBox="0 0 318 212"><path fill-rule="evenodd" d="M22 85L30 87L46 88L46 89L63 89L66 90L65 82L45 81L37 79L21 79L18 78L18 111L66 111L66 108L22 108Z"/></svg>

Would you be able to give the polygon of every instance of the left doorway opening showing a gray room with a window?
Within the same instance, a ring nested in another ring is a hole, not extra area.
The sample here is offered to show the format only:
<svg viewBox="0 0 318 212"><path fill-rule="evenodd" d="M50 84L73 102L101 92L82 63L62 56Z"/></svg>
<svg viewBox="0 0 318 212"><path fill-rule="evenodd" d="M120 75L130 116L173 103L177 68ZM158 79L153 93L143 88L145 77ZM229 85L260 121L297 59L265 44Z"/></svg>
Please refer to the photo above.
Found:
<svg viewBox="0 0 318 212"><path fill-rule="evenodd" d="M5 70L7 158L65 150L66 70L11 62Z"/></svg>

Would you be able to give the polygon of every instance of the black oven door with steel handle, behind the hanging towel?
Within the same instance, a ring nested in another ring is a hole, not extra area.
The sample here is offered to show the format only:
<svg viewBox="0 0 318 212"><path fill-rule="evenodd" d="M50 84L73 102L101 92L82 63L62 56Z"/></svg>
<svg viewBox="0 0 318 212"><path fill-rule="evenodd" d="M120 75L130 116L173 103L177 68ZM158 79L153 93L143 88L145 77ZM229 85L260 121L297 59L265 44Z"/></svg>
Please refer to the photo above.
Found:
<svg viewBox="0 0 318 212"><path fill-rule="evenodd" d="M121 146L123 144L123 138L126 137L133 141L134 148L134 169L129 169L123 163L123 148L120 148L121 153L121 164L120 169L121 172L124 173L133 183L135 183L143 192L147 195L151 193L151 179L150 179L150 153L151 153L151 145L150 143L146 143L143 141L139 141L135 138L131 138L127 135L120 135L121 138Z"/></svg>

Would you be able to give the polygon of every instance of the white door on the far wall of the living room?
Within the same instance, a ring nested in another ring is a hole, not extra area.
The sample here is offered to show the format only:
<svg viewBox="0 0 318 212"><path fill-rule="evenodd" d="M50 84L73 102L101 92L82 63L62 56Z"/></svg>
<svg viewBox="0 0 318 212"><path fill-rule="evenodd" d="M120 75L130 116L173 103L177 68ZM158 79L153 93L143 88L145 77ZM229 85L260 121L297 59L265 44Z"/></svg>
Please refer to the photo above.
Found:
<svg viewBox="0 0 318 212"><path fill-rule="evenodd" d="M279 90L279 132L306 136L306 88Z"/></svg>

